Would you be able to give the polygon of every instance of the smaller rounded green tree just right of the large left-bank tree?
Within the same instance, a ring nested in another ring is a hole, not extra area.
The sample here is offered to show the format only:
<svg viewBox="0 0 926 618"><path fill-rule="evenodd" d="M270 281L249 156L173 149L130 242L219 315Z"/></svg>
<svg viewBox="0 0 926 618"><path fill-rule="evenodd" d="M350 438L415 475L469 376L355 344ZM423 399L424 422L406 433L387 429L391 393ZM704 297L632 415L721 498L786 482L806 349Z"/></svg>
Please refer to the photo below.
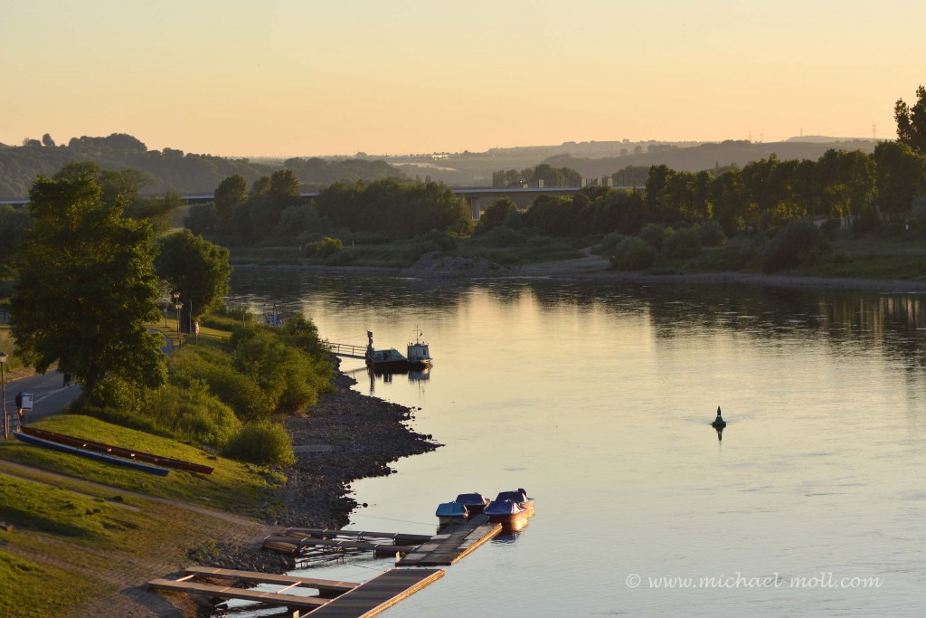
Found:
<svg viewBox="0 0 926 618"><path fill-rule="evenodd" d="M188 330L190 321L218 308L229 293L232 276L229 250L189 230L165 236L157 245L160 249L155 259L157 275L172 290L180 292L181 310L189 317L181 320L181 324Z"/></svg>

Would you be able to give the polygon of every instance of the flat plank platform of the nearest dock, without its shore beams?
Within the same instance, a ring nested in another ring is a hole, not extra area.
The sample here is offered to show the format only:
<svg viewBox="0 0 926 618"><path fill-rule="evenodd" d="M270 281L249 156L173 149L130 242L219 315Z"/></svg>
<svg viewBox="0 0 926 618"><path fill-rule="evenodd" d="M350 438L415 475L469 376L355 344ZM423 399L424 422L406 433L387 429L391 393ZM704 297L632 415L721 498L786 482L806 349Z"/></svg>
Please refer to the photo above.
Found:
<svg viewBox="0 0 926 618"><path fill-rule="evenodd" d="M444 569L392 569L329 601L311 618L369 618L443 576Z"/></svg>

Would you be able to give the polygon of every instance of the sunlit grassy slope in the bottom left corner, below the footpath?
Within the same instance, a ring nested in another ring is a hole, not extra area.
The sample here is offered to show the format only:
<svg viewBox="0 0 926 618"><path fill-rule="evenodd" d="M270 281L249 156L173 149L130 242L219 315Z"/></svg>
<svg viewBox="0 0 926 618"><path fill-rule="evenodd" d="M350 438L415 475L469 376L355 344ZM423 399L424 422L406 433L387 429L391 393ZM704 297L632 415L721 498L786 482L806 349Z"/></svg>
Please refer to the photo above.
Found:
<svg viewBox="0 0 926 618"><path fill-rule="evenodd" d="M0 532L0 615L10 617L192 613L188 599L137 586L260 530L3 460L0 504L14 526Z"/></svg>

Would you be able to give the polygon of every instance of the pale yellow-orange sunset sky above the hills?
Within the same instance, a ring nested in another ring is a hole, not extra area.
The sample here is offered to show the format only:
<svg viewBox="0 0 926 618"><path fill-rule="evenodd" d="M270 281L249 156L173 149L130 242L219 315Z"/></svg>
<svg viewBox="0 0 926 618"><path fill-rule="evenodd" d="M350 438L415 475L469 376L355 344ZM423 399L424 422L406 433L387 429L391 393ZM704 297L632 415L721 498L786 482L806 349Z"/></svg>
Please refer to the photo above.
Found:
<svg viewBox="0 0 926 618"><path fill-rule="evenodd" d="M220 156L895 138L922 0L0 0L0 142Z"/></svg>

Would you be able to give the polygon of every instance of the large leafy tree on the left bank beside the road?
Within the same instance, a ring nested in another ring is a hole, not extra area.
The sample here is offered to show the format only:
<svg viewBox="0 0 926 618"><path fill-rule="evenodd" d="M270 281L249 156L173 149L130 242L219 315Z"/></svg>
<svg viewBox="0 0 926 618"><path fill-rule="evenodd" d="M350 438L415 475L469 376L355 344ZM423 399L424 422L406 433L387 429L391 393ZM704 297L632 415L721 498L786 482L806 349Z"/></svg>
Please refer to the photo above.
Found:
<svg viewBox="0 0 926 618"><path fill-rule="evenodd" d="M92 170L69 170L32 184L32 227L19 251L10 298L23 359L99 401L108 378L156 386L167 377L158 319L151 226L105 203Z"/></svg>

